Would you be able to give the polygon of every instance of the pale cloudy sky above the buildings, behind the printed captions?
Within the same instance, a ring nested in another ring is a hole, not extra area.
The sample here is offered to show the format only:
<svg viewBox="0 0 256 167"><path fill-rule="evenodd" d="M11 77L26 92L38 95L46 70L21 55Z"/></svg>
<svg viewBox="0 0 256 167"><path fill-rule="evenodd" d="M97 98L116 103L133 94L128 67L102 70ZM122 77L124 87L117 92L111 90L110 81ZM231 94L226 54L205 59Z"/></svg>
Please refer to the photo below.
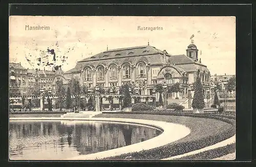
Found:
<svg viewBox="0 0 256 167"><path fill-rule="evenodd" d="M48 47L56 57L68 57L63 71L105 51L107 45L109 49L143 46L149 40L151 46L170 54L186 54L194 34L199 58L212 75L236 74L235 17L10 16L9 24L10 62L20 62L25 68L38 68L40 50ZM26 25L50 26L50 30L26 31ZM138 26L163 30L139 31Z"/></svg>

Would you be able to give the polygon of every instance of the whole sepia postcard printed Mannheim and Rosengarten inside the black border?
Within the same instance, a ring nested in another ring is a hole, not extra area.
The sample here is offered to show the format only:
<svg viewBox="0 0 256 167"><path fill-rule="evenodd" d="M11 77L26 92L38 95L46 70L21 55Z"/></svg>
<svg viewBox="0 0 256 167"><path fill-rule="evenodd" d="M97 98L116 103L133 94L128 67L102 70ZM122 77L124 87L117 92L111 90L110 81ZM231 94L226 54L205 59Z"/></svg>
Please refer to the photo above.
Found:
<svg viewBox="0 0 256 167"><path fill-rule="evenodd" d="M236 17L9 16L9 160L236 160Z"/></svg>

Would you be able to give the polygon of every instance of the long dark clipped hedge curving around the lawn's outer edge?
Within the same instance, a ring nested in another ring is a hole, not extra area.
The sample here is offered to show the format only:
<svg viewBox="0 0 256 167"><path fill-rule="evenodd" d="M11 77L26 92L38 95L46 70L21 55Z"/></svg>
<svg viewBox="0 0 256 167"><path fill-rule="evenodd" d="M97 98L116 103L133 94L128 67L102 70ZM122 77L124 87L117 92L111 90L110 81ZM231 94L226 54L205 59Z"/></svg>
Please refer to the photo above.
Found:
<svg viewBox="0 0 256 167"><path fill-rule="evenodd" d="M117 113L116 113L117 114ZM129 113L131 114L131 113ZM133 113L139 114L139 113ZM140 113L141 114L141 113ZM144 113L145 114L145 113ZM154 113L156 114L156 113ZM158 113L159 115L160 113ZM201 148L214 145L227 138L232 137L236 133L236 121L233 118L225 118L227 116L216 116L216 115L206 115L206 114L183 114L183 113L161 113L160 115L171 115L171 116L188 116L188 117L200 117L200 118L210 118L217 119L232 126L225 131L220 131L217 134L212 134L208 136L201 137L197 140L190 140L184 142L174 142L158 148L143 150L140 152L132 152L127 154L121 154L113 157L103 158L104 160L121 160L121 159L133 159L133 160L159 160L163 158L172 157L175 155L184 154L194 150L199 150Z"/></svg>

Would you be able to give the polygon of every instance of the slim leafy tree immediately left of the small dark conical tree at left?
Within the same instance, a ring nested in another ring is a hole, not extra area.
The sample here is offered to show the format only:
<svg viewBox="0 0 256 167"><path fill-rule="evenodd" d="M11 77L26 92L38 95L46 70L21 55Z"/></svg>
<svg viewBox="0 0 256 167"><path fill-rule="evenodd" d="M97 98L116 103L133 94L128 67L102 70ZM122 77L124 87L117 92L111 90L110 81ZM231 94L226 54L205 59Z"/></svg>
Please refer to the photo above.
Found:
<svg viewBox="0 0 256 167"><path fill-rule="evenodd" d="M62 80L57 80L55 82L55 90L56 90L56 95L58 95L58 99L56 100L56 107L59 108L59 110L62 110L62 107L65 104L65 99L63 99L61 96L65 95L66 89L63 86L63 81Z"/></svg>

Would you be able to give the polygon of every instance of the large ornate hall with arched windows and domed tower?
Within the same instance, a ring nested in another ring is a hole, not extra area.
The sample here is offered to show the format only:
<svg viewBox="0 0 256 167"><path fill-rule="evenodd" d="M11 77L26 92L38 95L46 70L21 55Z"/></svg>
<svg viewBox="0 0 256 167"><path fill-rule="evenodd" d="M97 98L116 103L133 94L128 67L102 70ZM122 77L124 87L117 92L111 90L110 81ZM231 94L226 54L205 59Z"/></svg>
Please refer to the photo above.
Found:
<svg viewBox="0 0 256 167"><path fill-rule="evenodd" d="M95 87L120 87L126 82L134 83L142 95L152 94L158 83L180 82L182 93L187 96L187 87L193 85L200 74L203 89L209 88L210 72L198 59L198 49L193 43L186 55L172 55L156 47L137 46L106 50L77 62L75 68L65 72L67 78L77 76L81 85ZM206 91L205 91L206 92ZM169 97L176 97L169 94Z"/></svg>

